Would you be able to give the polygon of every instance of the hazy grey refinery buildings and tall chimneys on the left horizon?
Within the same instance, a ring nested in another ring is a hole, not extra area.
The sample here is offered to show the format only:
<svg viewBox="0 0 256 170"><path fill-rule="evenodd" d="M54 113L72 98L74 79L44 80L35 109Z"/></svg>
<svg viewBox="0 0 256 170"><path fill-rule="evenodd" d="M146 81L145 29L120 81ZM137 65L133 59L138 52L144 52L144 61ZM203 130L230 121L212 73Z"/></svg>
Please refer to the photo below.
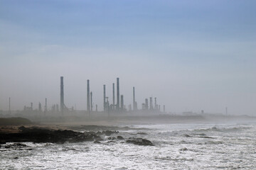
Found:
<svg viewBox="0 0 256 170"><path fill-rule="evenodd" d="M23 111L11 111L11 98L9 98L9 111L1 111L1 114L6 115L22 115L22 116L68 116L68 115L85 115L90 118L91 115L106 115L110 117L111 115L142 115L142 114L154 114L154 113L165 113L165 106L161 110L160 105L156 101L156 97L145 98L142 107L139 108L136 101L135 87L132 88L132 103L126 106L124 104L124 95L120 93L119 77L116 79L116 83L112 83L112 96L106 96L106 84L103 84L103 102L102 111L98 111L98 103L93 103L94 100L90 91L90 80L87 79L87 101L85 111L76 111L74 106L68 107L65 105L65 91L64 91L64 77L60 77L60 105L54 103L51 106L47 103L47 98L45 98L44 106L41 102L38 103L38 107L33 106L33 102L30 106L24 106ZM68 97L68 96L66 96ZM112 98L112 101L111 101ZM127 100L128 101L128 100ZM100 103L99 103L100 104Z"/></svg>

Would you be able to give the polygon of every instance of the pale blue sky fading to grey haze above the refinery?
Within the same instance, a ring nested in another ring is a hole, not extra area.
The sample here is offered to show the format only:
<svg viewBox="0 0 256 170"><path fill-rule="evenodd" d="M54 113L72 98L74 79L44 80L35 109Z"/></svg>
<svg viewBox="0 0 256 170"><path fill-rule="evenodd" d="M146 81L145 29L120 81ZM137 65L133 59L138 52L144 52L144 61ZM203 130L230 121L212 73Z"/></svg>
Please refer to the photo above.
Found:
<svg viewBox="0 0 256 170"><path fill-rule="evenodd" d="M0 0L0 110L60 103L102 110L120 79L141 108L256 115L256 1Z"/></svg>

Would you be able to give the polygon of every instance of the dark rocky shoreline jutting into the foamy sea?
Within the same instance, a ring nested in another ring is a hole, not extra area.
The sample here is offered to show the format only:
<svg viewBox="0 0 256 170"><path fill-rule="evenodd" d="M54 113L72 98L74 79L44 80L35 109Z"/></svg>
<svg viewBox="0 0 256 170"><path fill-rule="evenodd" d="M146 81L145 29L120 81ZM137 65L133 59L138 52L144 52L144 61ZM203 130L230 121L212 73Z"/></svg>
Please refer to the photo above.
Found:
<svg viewBox="0 0 256 170"><path fill-rule="evenodd" d="M25 128L21 126L18 128L19 132L14 133L0 133L0 144L7 142L34 142L34 143L57 143L63 144L65 142L95 142L100 144L104 141L106 136L118 134L114 130L103 130L98 132L76 132L73 130L53 130L48 128L30 127ZM134 145L154 146L149 140L142 139L141 137L129 137L127 140L122 136L107 137L108 142L113 140L124 140L127 143Z"/></svg>

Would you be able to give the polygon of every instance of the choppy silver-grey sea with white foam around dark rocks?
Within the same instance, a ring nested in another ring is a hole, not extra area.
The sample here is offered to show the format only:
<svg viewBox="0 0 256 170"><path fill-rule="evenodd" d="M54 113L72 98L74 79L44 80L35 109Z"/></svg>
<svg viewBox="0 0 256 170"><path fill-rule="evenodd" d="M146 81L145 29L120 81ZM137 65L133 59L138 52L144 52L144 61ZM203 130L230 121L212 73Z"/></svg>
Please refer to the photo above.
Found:
<svg viewBox="0 0 256 170"><path fill-rule="evenodd" d="M253 123L130 125L111 137L117 135L154 146L107 136L101 143L7 143L0 147L0 169L256 169Z"/></svg>

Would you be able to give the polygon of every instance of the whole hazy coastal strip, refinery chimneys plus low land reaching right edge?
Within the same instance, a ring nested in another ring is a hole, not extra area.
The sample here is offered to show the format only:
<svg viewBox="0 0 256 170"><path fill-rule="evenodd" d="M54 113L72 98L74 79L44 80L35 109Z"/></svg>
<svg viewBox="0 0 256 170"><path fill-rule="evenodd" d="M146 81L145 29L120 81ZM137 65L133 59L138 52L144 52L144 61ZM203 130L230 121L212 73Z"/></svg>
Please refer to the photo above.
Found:
<svg viewBox="0 0 256 170"><path fill-rule="evenodd" d="M60 104L48 104L45 98L44 106L41 102L38 107L34 107L33 102L30 106L24 106L23 110L11 110L11 98L9 98L9 111L0 111L1 117L21 117L28 118L34 122L88 122L97 121L120 121L122 123L194 123L196 122L227 122L236 120L250 120L251 116L228 114L228 107L225 107L225 113L206 113L201 110L200 113L185 111L183 113L166 112L166 106L157 103L157 98L150 96L144 99L141 108L136 101L135 87L132 87L132 104L124 104L124 95L120 94L119 77L116 84L112 83L112 101L106 94L106 85L103 84L102 110L98 109L98 104L93 103L93 92L90 91L90 80L87 79L86 109L77 110L74 106L66 106L64 100L64 77L60 77ZM68 96L67 96L68 97ZM95 100L96 101L96 100ZM253 118L254 119L254 118Z"/></svg>

